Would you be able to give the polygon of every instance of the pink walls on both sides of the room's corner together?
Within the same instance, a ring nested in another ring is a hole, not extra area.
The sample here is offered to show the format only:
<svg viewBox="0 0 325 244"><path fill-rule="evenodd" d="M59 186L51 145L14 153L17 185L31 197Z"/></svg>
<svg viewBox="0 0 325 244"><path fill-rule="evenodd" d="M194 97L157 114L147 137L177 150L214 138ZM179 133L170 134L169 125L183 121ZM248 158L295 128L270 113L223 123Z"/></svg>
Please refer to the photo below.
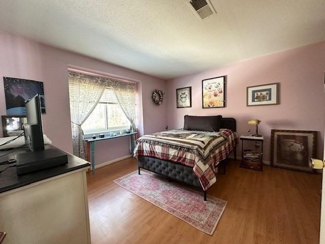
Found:
<svg viewBox="0 0 325 244"><path fill-rule="evenodd" d="M235 117L239 134L247 133L249 118L262 120L260 132L266 137L265 159L270 160L270 130L318 131L318 157L322 157L324 130L323 80L325 42L245 60L218 69L164 82L145 74L107 64L93 58L53 48L0 32L0 114L6 114L2 76L44 82L47 113L44 132L59 148L72 151L68 66L116 75L138 82L137 118L141 135L183 126L183 116L222 114ZM202 109L202 79L227 75L226 108ZM246 87L280 82L280 105L246 107ZM175 89L192 86L192 108L176 109ZM166 90L165 102L156 106L151 91ZM2 131L0 131L2 136ZM127 138L96 143L96 163L129 154Z"/></svg>

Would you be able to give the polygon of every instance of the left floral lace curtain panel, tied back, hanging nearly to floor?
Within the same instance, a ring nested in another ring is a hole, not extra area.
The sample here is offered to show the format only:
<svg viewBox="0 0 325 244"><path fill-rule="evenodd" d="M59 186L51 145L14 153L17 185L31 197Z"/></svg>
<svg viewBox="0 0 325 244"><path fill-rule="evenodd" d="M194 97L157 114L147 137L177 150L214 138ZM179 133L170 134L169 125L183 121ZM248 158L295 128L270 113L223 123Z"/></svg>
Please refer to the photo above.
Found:
<svg viewBox="0 0 325 244"><path fill-rule="evenodd" d="M100 101L106 86L104 78L69 71L73 154L79 158L85 159L81 125Z"/></svg>

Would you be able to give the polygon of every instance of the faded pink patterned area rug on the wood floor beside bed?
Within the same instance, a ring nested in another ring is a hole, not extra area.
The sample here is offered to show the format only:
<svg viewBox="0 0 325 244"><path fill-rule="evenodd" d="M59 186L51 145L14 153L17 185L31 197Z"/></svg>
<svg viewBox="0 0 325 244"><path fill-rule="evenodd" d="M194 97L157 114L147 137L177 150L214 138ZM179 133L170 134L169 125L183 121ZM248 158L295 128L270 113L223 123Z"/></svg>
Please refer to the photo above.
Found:
<svg viewBox="0 0 325 244"><path fill-rule="evenodd" d="M212 196L204 201L202 192L144 171L140 175L138 171L132 172L113 182L209 235L213 234L227 203Z"/></svg>

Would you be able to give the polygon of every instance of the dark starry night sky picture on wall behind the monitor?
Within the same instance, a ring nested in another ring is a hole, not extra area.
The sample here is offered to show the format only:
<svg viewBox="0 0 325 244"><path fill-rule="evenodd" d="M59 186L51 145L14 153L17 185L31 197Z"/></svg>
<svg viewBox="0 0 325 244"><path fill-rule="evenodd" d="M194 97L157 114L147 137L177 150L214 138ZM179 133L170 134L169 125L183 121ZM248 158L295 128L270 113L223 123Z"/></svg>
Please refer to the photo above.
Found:
<svg viewBox="0 0 325 244"><path fill-rule="evenodd" d="M35 95L41 98L41 112L45 113L43 82L4 77L7 114L26 114L25 103Z"/></svg>

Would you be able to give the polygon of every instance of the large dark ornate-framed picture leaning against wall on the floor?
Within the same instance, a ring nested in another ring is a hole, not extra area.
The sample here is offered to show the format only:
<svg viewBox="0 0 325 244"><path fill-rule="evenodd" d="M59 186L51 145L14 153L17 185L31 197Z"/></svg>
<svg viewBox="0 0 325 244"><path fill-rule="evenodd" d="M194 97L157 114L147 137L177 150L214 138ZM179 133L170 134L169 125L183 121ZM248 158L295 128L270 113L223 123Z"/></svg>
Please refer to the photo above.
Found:
<svg viewBox="0 0 325 244"><path fill-rule="evenodd" d="M309 159L316 157L316 131L271 130L271 166L315 172Z"/></svg>

